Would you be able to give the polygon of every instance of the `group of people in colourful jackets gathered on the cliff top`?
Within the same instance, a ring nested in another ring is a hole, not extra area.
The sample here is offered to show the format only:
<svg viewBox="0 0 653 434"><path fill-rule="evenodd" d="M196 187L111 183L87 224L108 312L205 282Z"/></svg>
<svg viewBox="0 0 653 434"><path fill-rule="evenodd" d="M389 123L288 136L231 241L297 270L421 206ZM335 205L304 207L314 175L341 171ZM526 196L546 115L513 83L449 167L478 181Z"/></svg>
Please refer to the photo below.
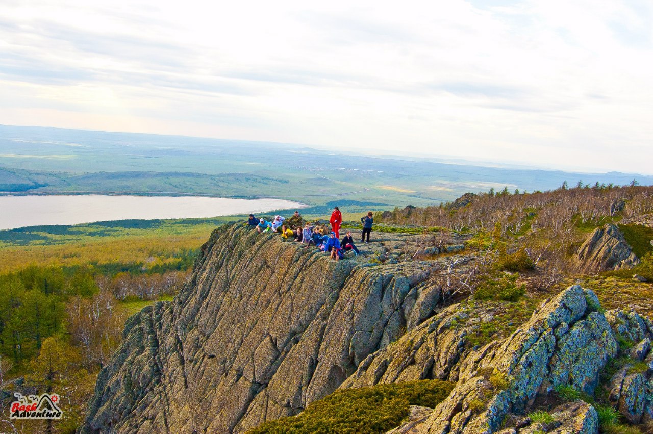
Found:
<svg viewBox="0 0 653 434"><path fill-rule="evenodd" d="M272 221L265 219L256 219L253 214L249 214L247 225L256 228L257 232L281 232L283 238L294 238L295 241L305 244L308 248L311 244L317 246L322 251L329 253L335 260L340 260L345 256L345 252L353 251L355 255L360 253L356 245L354 245L351 230L347 231L347 235L340 239L340 228L342 227L342 213L338 207L334 207L329 219L330 228L327 225L311 225L304 223L302 215L299 211L295 211L293 217L285 219L281 215L275 215ZM370 242L370 232L372 232L372 225L374 224L374 214L372 211L367 215L361 217L360 223L363 226L361 243ZM367 240L365 235L367 234Z"/></svg>

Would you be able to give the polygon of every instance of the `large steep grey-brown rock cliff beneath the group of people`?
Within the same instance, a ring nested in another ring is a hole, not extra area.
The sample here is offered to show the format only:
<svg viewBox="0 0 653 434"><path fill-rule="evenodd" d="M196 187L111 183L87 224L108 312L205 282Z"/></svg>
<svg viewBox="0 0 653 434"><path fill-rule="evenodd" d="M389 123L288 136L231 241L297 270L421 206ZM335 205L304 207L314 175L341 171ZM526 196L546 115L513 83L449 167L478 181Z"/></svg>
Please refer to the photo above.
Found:
<svg viewBox="0 0 653 434"><path fill-rule="evenodd" d="M240 433L302 411L432 316L438 261L392 264L419 238L336 262L276 234L218 228L174 302L127 322L80 431Z"/></svg>

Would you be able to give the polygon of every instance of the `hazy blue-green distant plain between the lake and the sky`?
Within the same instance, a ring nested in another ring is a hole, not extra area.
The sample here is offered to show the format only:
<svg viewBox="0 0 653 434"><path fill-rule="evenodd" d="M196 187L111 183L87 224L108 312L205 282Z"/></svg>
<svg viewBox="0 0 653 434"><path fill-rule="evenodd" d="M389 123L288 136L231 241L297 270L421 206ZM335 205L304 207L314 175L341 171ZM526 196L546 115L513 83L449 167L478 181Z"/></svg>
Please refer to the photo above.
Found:
<svg viewBox="0 0 653 434"><path fill-rule="evenodd" d="M0 125L0 194L202 194L284 198L310 206L353 200L383 209L428 206L463 193L553 189L567 181L641 185L652 176L573 174L436 159L336 154L244 140ZM398 149L401 153L401 149Z"/></svg>

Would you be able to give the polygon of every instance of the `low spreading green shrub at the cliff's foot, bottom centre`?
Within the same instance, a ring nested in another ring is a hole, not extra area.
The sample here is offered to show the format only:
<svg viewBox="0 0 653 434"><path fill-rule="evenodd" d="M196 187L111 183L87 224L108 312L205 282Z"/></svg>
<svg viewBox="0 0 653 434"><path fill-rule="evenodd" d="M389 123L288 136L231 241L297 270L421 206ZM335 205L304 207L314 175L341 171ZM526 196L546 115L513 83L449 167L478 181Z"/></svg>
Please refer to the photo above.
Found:
<svg viewBox="0 0 653 434"><path fill-rule="evenodd" d="M248 433L385 433L407 416L409 405L433 408L453 387L451 382L421 380L336 390L297 416L266 422Z"/></svg>

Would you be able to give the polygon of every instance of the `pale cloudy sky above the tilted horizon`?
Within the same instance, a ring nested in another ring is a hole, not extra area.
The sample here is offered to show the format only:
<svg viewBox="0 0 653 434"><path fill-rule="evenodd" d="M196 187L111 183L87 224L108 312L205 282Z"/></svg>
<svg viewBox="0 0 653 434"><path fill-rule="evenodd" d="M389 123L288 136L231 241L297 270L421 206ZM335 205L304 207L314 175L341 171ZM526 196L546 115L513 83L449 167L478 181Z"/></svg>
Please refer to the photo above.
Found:
<svg viewBox="0 0 653 434"><path fill-rule="evenodd" d="M653 174L653 2L0 0L0 123Z"/></svg>

